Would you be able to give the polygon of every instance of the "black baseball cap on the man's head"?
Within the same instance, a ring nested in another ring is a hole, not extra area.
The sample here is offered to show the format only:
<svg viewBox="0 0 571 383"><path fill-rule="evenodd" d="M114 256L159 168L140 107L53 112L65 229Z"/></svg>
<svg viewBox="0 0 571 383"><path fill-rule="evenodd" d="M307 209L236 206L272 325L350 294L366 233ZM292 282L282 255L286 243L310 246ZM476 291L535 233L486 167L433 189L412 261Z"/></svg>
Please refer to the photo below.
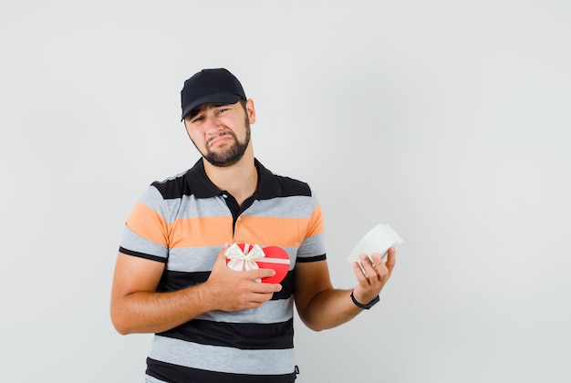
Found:
<svg viewBox="0 0 571 383"><path fill-rule="evenodd" d="M235 104L241 98L246 99L244 88L227 69L202 69L192 78L184 81L181 90L182 119L192 109L202 104Z"/></svg>

